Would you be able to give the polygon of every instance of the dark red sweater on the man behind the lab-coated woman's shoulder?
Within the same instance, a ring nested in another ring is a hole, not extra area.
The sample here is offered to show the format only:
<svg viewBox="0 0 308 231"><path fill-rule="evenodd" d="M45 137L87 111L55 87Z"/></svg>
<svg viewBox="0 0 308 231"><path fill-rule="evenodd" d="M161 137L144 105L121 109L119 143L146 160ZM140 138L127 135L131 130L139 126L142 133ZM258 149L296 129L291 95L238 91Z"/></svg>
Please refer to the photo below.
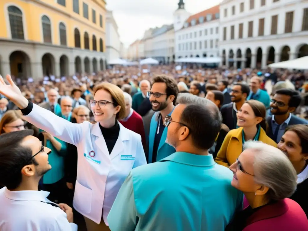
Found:
<svg viewBox="0 0 308 231"><path fill-rule="evenodd" d="M133 111L131 117L128 118L126 121L119 121L125 128L138 133L141 136L141 141L143 148L146 145L145 141L145 132L144 132L144 125L141 115L139 115L136 111Z"/></svg>

